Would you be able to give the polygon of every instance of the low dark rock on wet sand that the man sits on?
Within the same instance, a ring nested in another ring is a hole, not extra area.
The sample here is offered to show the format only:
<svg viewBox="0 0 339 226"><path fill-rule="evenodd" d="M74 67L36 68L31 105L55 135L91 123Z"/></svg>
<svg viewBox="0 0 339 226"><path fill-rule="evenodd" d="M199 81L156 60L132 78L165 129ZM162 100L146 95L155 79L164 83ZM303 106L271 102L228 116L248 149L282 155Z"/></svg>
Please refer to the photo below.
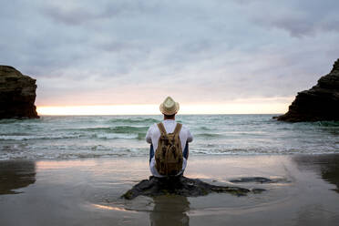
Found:
<svg viewBox="0 0 339 226"><path fill-rule="evenodd" d="M243 196L251 191L253 193L260 193L263 190L248 190L238 187L211 185L199 179L189 179L183 176L173 178L149 177L149 180L141 180L121 197L127 200L132 200L139 195L156 197L174 194L184 197L197 197L207 195L211 192L231 193L233 195Z"/></svg>

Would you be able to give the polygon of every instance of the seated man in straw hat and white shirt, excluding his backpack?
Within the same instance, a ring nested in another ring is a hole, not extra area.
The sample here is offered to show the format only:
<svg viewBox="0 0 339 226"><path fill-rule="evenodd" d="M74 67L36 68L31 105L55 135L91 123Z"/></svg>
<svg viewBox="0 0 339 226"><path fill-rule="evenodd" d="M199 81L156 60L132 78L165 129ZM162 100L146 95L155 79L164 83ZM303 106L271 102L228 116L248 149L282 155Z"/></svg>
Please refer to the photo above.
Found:
<svg viewBox="0 0 339 226"><path fill-rule="evenodd" d="M163 128L165 128L167 133L173 133L175 128L177 128L177 122L175 121L175 115L179 111L179 103L175 102L172 98L168 97L164 102L159 106L161 113L164 115L164 120L162 121ZM180 125L179 125L180 126ZM189 142L193 140L192 135L190 134L189 128L182 125L179 132L180 138L180 147L182 150L182 168L178 172L177 176L183 173L186 168L187 159L189 157ZM149 131L146 135L146 141L150 144L149 150L149 169L153 176L162 178L166 175L159 173L156 167L156 151L158 149L159 138L161 132L159 130L159 125L154 124L149 128Z"/></svg>

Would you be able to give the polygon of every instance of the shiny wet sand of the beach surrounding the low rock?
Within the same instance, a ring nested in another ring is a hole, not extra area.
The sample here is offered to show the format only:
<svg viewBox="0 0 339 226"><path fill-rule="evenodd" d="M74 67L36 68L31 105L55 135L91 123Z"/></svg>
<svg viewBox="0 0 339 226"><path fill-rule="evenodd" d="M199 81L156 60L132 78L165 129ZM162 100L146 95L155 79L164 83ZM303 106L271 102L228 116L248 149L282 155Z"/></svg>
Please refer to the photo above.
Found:
<svg viewBox="0 0 339 226"><path fill-rule="evenodd" d="M338 175L334 154L190 156L187 177L266 191L122 200L146 157L0 161L0 225L337 225Z"/></svg>

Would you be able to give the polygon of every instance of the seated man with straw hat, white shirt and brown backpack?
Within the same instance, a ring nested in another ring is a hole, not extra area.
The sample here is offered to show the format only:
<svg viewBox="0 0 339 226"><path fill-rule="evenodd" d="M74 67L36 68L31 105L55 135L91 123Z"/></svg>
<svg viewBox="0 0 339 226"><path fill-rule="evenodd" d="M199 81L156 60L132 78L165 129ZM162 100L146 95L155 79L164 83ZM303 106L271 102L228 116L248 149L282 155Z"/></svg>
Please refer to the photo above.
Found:
<svg viewBox="0 0 339 226"><path fill-rule="evenodd" d="M193 137L189 128L175 121L178 102L168 97L159 108L164 120L152 125L146 135L150 144L149 169L157 178L180 176L186 168Z"/></svg>

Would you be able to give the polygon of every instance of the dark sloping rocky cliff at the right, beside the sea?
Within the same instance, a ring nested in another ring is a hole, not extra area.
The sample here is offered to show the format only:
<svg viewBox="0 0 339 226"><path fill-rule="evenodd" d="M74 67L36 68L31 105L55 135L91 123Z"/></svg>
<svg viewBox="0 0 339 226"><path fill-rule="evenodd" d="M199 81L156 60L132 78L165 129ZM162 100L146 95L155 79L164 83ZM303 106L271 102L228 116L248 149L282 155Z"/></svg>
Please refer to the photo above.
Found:
<svg viewBox="0 0 339 226"><path fill-rule="evenodd" d="M318 84L298 93L282 121L339 120L339 59L330 74L321 77Z"/></svg>

